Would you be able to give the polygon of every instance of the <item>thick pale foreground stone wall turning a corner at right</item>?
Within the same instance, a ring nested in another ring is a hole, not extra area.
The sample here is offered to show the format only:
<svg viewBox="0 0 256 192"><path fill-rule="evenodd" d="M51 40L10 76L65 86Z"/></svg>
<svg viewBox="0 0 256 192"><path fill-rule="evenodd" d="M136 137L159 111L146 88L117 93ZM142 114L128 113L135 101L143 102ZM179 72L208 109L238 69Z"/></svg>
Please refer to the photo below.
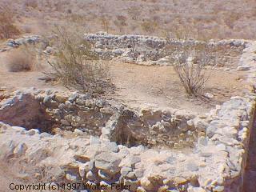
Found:
<svg viewBox="0 0 256 192"><path fill-rule="evenodd" d="M123 183L132 192L242 191L254 99L234 97L212 110L206 116L206 137L200 137L193 150L127 147L105 138L85 138L77 130L50 135L0 123L0 159L16 169L22 165L20 171L29 181L37 178L47 185L100 183L105 191L122 191L111 189L111 184ZM38 172L42 169L43 175Z"/></svg>

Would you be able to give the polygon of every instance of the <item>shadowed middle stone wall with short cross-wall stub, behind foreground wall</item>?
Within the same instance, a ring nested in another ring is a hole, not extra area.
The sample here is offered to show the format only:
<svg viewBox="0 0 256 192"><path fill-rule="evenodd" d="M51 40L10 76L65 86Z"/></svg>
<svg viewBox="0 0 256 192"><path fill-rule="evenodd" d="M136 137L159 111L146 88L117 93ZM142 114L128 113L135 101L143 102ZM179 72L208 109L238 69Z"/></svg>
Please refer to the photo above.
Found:
<svg viewBox="0 0 256 192"><path fill-rule="evenodd" d="M1 121L12 126L81 130L127 146L193 146L198 135L194 118L184 110L132 110L88 94L51 90L14 93L0 110Z"/></svg>

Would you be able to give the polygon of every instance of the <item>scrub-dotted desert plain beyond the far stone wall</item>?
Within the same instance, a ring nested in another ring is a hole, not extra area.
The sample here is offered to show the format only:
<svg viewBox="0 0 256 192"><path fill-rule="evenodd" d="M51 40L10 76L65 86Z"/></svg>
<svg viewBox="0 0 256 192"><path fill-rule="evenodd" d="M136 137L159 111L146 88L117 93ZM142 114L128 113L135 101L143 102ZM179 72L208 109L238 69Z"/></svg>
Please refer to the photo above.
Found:
<svg viewBox="0 0 256 192"><path fill-rule="evenodd" d="M6 5L6 2L2 0L2 4ZM42 27L39 20L52 25L53 22L66 24L70 18L86 25L88 32L105 30L111 34L148 34L147 30L150 30L151 34L162 36L167 30L172 38L177 38L182 29L189 28L191 38L252 39L256 31L255 4L252 0L111 0L108 3L87 0L20 0L11 2L10 6L15 10L12 12L14 18L18 17L22 24L33 23L32 33ZM148 25L148 22L151 24Z"/></svg>

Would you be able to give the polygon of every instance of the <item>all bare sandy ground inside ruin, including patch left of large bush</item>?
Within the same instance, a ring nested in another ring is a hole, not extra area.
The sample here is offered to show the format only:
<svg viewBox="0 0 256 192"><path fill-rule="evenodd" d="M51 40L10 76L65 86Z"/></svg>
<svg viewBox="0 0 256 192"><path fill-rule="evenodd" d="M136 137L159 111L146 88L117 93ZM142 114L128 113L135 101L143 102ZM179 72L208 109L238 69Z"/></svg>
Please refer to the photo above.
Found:
<svg viewBox="0 0 256 192"><path fill-rule="evenodd" d="M9 72L5 62L7 54L11 54L11 51L0 54L0 88L20 90L33 86L39 89L66 90L61 85L38 80L44 77L43 71L50 71L43 65L42 70ZM205 113L231 96L241 95L245 86L242 81L244 72L211 70L207 71L210 80L204 92L214 94L214 98L188 98L172 66L139 66L120 62L110 62L109 66L116 90L114 94L108 94L107 98L135 108L149 106Z"/></svg>

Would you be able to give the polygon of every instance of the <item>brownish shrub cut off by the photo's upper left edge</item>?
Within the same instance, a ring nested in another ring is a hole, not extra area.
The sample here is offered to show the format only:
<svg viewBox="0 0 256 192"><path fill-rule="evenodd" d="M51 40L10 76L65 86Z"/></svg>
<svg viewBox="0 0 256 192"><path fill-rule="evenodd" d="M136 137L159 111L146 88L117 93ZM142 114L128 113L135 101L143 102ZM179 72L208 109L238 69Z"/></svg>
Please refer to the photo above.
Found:
<svg viewBox="0 0 256 192"><path fill-rule="evenodd" d="M19 33L14 26L14 12L8 6L0 6L0 39L13 38Z"/></svg>

